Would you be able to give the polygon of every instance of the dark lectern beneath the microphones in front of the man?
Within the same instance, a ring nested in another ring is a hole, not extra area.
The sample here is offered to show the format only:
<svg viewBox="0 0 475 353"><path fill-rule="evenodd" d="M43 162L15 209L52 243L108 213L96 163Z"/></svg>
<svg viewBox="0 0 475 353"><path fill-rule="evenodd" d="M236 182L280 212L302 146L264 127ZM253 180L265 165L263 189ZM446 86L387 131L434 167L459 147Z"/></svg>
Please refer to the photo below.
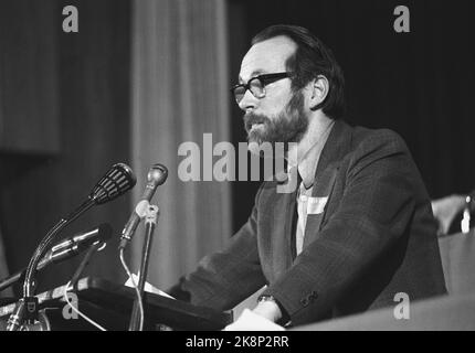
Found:
<svg viewBox="0 0 475 353"><path fill-rule="evenodd" d="M80 331L96 330L94 325L71 314L71 308L63 299L64 286L38 296L40 318L34 325L25 327L34 331ZM70 291L68 291L70 292ZM107 330L126 331L135 299L135 290L110 281L86 277L77 282L75 291L81 312ZM7 327L14 302L0 308L0 330ZM154 293L144 297L144 330L221 330L232 322L231 312L215 311L188 302L173 300Z"/></svg>

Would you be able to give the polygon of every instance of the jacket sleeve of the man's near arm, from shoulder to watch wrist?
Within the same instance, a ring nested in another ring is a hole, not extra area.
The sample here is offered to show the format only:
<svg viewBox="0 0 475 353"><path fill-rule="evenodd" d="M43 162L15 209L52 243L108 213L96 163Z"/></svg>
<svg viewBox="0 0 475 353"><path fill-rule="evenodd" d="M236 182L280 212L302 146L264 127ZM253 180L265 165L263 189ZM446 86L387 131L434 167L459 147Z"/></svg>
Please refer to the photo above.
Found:
<svg viewBox="0 0 475 353"><path fill-rule="evenodd" d="M328 314L346 289L403 235L414 212L419 172L395 133L382 131L360 142L346 168L337 211L265 292L278 300L294 324Z"/></svg>

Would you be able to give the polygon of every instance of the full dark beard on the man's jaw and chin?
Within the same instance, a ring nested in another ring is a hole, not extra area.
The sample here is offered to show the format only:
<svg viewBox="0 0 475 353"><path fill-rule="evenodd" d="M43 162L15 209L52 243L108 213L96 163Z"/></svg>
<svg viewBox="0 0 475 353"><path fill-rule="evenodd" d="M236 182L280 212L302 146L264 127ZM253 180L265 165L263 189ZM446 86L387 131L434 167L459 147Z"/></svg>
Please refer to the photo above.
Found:
<svg viewBox="0 0 475 353"><path fill-rule="evenodd" d="M262 127L252 129L255 124ZM247 141L261 145L270 142L299 142L308 128L308 117L304 111L304 95L294 94L286 107L276 117L247 113L244 115L244 128L247 131Z"/></svg>

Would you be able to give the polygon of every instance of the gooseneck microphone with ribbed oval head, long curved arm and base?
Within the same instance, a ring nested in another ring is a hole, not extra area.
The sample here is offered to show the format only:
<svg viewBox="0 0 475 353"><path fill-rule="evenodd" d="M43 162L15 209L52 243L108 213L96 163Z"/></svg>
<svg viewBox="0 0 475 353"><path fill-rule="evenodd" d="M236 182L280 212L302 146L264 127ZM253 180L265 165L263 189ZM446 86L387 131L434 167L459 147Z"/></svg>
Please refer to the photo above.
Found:
<svg viewBox="0 0 475 353"><path fill-rule="evenodd" d="M97 182L87 200L83 202L74 212L56 223L50 229L50 232L48 232L45 237L36 247L36 250L34 252L27 267L25 279L23 284L23 298L19 300L15 309L8 320L7 331L18 330L23 324L25 319L28 321L36 319L38 298L33 297L35 289L34 275L36 274L38 264L40 263L45 250L48 250L48 247L54 240L56 234L59 234L65 226L67 226L71 222L76 220L92 206L116 199L117 196L134 188L136 178L128 165L124 163L114 164L109 171Z"/></svg>

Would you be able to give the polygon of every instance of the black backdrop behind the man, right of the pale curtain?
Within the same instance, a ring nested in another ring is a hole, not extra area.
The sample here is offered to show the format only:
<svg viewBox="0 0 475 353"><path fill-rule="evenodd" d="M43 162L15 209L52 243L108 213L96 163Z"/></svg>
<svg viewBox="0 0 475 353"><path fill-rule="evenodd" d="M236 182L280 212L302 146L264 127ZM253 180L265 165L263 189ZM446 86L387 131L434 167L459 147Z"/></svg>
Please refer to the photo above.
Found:
<svg viewBox="0 0 475 353"><path fill-rule="evenodd" d="M397 6L410 33L395 33ZM347 81L346 120L390 128L407 141L432 197L475 188L473 99L475 25L468 1L232 0L231 77L254 34L276 23L308 28L334 51ZM234 142L245 141L234 105ZM245 222L257 183L234 184L234 229Z"/></svg>

